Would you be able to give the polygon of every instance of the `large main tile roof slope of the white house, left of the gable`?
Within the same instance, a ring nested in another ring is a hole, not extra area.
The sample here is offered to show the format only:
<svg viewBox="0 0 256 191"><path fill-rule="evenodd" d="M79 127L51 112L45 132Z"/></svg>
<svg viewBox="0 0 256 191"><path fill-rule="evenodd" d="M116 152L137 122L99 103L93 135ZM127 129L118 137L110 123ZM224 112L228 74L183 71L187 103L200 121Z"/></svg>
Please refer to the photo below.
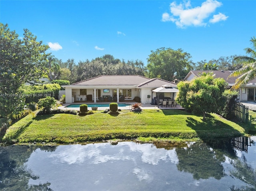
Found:
<svg viewBox="0 0 256 191"><path fill-rule="evenodd" d="M140 75L100 75L72 85L138 85L149 79Z"/></svg>

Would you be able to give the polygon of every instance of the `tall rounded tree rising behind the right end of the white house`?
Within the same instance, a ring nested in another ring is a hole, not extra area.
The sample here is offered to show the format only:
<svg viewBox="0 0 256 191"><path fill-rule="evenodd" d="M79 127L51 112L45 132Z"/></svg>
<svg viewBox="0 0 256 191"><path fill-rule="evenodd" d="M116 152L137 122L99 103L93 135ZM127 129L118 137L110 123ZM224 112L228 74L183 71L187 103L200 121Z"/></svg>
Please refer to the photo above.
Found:
<svg viewBox="0 0 256 191"><path fill-rule="evenodd" d="M168 81L183 79L192 69L189 53L182 49L160 48L151 51L148 57L148 77L162 78Z"/></svg>

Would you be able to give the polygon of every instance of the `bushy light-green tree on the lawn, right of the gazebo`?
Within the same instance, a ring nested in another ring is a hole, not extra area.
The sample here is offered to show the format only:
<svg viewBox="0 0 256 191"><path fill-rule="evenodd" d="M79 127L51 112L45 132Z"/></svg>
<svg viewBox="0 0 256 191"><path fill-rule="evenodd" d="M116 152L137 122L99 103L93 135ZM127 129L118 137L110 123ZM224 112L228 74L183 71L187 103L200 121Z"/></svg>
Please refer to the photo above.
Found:
<svg viewBox="0 0 256 191"><path fill-rule="evenodd" d="M212 73L202 73L191 82L178 83L178 104L197 114L216 112L227 83L223 78L214 78Z"/></svg>

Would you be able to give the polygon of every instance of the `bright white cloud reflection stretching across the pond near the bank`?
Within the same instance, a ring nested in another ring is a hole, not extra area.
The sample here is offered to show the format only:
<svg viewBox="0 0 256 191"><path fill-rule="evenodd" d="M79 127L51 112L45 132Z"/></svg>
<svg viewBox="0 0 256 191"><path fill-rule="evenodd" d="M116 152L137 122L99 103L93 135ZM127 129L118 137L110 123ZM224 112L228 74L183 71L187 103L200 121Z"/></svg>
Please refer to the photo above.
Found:
<svg viewBox="0 0 256 191"><path fill-rule="evenodd" d="M130 148L130 154L128 156L124 154L123 146ZM160 160L178 163L175 149L165 150L164 148L156 148L152 144L138 145L134 142L120 142L117 146L111 148L115 152L113 154L109 154L109 152L108 154L104 154L106 149L109 150L108 144L70 145L64 147L60 152L51 154L50 158L53 158L55 163L79 164L85 160L89 160L89 163L99 164L118 160L134 161L134 154L132 152L140 152L142 154L141 159L145 163L156 165Z"/></svg>

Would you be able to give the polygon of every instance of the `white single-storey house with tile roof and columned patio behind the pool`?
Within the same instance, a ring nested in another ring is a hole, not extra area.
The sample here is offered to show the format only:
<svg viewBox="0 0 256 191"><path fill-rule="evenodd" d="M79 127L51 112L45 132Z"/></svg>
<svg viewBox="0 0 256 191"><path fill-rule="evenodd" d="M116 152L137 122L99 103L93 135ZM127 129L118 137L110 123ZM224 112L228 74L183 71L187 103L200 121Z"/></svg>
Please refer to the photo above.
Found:
<svg viewBox="0 0 256 191"><path fill-rule="evenodd" d="M133 100L140 97L142 103L152 102L156 93L152 90L168 85L177 87L175 83L159 78L146 78L140 75L101 75L72 85L63 85L66 94L66 103L80 100L106 99L108 96L116 96L116 102L123 96L124 100ZM171 93L163 93L162 96L171 97Z"/></svg>

